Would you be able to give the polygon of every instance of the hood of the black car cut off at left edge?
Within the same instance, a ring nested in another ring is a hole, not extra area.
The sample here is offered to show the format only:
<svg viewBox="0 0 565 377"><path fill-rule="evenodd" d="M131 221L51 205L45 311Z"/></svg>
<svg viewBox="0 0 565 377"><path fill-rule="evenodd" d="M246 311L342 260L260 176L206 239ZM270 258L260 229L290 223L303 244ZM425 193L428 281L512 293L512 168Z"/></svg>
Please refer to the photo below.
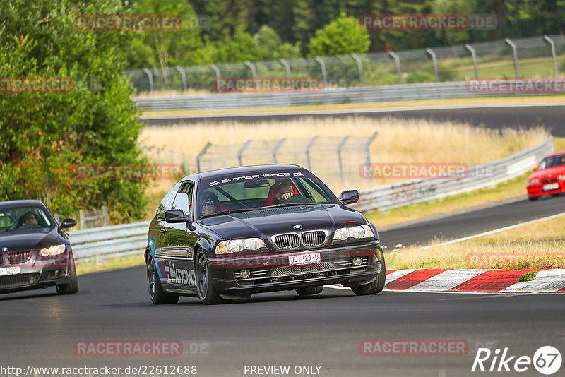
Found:
<svg viewBox="0 0 565 377"><path fill-rule="evenodd" d="M0 250L40 249L44 246L66 244L66 240L59 235L57 227L48 232L41 229L23 229L11 232L0 232Z"/></svg>

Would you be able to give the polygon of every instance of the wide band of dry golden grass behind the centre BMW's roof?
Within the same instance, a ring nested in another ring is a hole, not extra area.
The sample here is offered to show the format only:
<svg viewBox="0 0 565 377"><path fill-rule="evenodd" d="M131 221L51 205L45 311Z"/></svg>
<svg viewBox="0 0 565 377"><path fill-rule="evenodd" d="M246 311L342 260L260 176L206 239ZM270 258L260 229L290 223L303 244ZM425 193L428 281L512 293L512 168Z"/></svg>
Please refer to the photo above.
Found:
<svg viewBox="0 0 565 377"><path fill-rule="evenodd" d="M164 150L165 152L161 153L162 162L171 162L170 152L167 151L175 150L179 153L184 152L189 165L194 166L196 155L208 142L218 145L244 143L249 139L312 138L317 135L369 137L375 132L378 132L379 136L371 144L372 162L451 162L469 166L499 160L538 145L547 137L547 132L542 128L528 131L507 130L499 134L482 128L477 129L470 124L453 122L438 124L425 119L406 120L390 117L386 119L366 117L319 119L307 116L291 121L261 121L255 124L223 121L221 123L177 124L167 127L147 126L143 128L140 140L141 143L155 145ZM335 174L338 166L336 153L333 150L313 150L312 157L313 172L318 174L333 191L339 192L346 188L363 189L393 183L391 180L359 178L359 164L364 162L364 154L360 150L354 162L347 162L345 169L347 184L343 184ZM155 161L157 160L156 151L157 149L153 149L148 152L148 156ZM175 158L181 158L179 153L175 155L177 156ZM285 157L284 145L279 155L278 162L304 164L304 158L302 161L295 161L290 160L291 157ZM348 152L348 156L350 155L351 153ZM256 164L271 162L270 155L254 159Z"/></svg>

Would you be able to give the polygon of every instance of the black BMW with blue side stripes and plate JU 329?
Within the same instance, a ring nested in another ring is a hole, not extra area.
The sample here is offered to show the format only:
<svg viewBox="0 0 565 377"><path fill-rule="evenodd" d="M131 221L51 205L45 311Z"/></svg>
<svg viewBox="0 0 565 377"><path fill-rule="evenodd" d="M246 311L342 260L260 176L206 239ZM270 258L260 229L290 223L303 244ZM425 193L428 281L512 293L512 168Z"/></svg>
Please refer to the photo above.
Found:
<svg viewBox="0 0 565 377"><path fill-rule="evenodd" d="M184 177L161 201L145 250L153 304L179 296L204 304L259 292L318 294L341 284L381 292L379 234L356 210L297 165L261 165Z"/></svg>

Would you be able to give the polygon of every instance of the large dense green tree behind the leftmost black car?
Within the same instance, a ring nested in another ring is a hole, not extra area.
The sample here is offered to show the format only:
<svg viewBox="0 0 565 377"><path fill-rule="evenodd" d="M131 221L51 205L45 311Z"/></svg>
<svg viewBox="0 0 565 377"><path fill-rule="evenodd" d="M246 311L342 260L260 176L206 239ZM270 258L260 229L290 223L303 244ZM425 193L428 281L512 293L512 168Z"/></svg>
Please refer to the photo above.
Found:
<svg viewBox="0 0 565 377"><path fill-rule="evenodd" d="M117 0L4 1L0 200L37 198L62 215L107 205L114 221L143 215L145 182L75 174L81 164L144 162L138 112L121 73L129 33L73 27L77 15L122 12ZM38 93L14 86L16 78L40 77L71 78L72 88Z"/></svg>

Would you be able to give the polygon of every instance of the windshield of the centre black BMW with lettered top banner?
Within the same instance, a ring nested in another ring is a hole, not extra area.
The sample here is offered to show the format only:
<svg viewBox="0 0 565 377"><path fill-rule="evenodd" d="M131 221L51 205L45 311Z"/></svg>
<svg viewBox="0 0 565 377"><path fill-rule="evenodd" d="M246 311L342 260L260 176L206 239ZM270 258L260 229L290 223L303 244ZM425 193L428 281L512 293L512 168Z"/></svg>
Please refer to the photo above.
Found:
<svg viewBox="0 0 565 377"><path fill-rule="evenodd" d="M304 171L225 176L198 185L198 218L271 206L339 203L314 174Z"/></svg>

